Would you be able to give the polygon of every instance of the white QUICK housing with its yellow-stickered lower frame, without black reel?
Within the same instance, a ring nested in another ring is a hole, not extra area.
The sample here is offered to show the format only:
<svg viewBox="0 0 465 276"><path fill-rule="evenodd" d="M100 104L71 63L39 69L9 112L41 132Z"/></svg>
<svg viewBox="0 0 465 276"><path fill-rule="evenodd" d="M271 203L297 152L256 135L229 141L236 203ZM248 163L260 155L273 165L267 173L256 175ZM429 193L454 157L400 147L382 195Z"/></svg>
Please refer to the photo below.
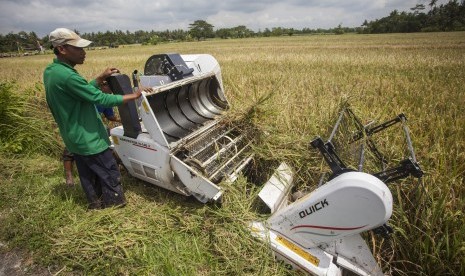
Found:
<svg viewBox="0 0 465 276"><path fill-rule="evenodd" d="M278 259L312 275L382 275L360 233L387 222L392 195L378 178L347 172L276 211L252 233Z"/></svg>

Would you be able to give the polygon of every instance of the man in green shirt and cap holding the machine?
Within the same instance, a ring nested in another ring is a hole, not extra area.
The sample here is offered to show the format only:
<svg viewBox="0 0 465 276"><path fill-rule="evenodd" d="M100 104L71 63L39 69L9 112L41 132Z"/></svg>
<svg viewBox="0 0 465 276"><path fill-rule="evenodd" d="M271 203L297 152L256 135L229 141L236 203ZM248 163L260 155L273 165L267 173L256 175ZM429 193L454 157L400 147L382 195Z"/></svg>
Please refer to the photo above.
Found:
<svg viewBox="0 0 465 276"><path fill-rule="evenodd" d="M118 72L116 68L107 68L90 82L74 69L77 64L84 63L84 48L91 41L65 28L52 31L49 41L56 58L44 71L46 100L66 148L74 154L89 208L124 206L121 175L109 149L107 130L95 106L121 105L139 98L142 90L124 96L103 93L98 87Z"/></svg>

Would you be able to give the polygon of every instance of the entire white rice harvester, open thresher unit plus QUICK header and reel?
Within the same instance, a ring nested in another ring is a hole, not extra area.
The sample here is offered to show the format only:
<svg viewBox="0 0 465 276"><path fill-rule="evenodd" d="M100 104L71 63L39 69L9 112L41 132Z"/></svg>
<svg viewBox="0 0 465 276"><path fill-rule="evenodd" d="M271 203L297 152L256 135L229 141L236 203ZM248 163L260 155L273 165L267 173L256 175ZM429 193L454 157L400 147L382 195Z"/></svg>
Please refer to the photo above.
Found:
<svg viewBox="0 0 465 276"><path fill-rule="evenodd" d="M202 203L218 202L223 190L219 183L233 183L254 159L253 128L243 128L225 119L229 102L221 70L208 54L157 54L145 63L143 74L115 74L108 82L115 94L128 94L136 87L152 87L136 102L118 107L122 125L111 129L114 150L129 174L145 182ZM293 170L276 166L265 181L259 198L271 213L267 221L251 222L251 233L267 242L275 256L311 275L382 275L370 249L360 234L373 230L391 231L387 221L392 214L388 182L408 175L421 176L414 157L408 129L411 156L392 169L379 173L350 169L336 153L332 138L344 108L327 142L312 141L329 167L331 176L317 189L300 199L289 199ZM369 127L358 123L353 141L371 141L373 134L398 122ZM364 163L364 149L360 166ZM381 160L381 163L384 161Z"/></svg>

